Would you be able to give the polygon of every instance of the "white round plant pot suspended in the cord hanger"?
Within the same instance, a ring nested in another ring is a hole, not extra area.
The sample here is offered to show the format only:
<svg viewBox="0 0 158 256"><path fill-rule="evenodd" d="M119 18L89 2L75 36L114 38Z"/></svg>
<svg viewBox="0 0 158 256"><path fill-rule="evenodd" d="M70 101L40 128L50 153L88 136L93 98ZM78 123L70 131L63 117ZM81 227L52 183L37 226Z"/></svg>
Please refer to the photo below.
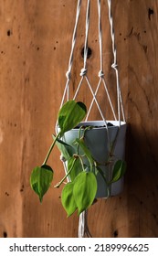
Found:
<svg viewBox="0 0 158 256"><path fill-rule="evenodd" d="M113 126L108 127L109 138L111 144L115 140L116 134L119 129L119 122L118 121L107 121L107 123L112 123ZM109 143L108 143L108 136L107 136L107 128L105 127L104 121L90 121L90 122L83 122L79 123L79 126L87 126L92 125L94 128L87 131L85 133L85 144L87 144L88 148L90 149L91 155L98 163L105 163L108 159L109 155ZM127 124L121 122L120 131L117 136L117 143L114 149L114 162L118 159L124 159L124 152L125 152L125 134L126 134L126 126ZM72 129L68 131L64 135L64 141L67 144L72 145L75 138L78 137L79 129ZM105 174L106 179L110 180L112 176L112 168L109 165L99 165L102 172ZM107 197L107 187L105 181L103 180L100 173L97 175L98 181L98 191L96 197ZM123 177L115 183L111 184L110 187L110 195L116 196L121 193L123 188Z"/></svg>

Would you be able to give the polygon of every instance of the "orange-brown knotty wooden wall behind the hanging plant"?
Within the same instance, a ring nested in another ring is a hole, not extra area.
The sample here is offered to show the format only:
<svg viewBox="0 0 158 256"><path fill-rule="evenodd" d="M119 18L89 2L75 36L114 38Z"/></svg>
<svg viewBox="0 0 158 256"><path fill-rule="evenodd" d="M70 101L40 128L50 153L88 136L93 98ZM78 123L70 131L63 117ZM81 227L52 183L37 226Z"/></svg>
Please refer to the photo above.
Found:
<svg viewBox="0 0 158 256"><path fill-rule="evenodd" d="M73 88L83 66L86 3ZM104 71L113 97L107 2L101 5ZM29 186L31 170L42 164L54 133L76 6L77 0L0 1L0 237L78 237L79 218L66 218L61 190L52 186L40 205ZM123 193L90 208L90 231L93 237L158 237L158 1L112 0L112 14L128 123L128 169ZM97 0L92 0L88 65L93 84L100 69L97 18ZM81 97L90 101L90 92L82 91ZM101 91L99 97L105 108ZM58 156L55 150L49 160L57 170L53 185L63 175Z"/></svg>

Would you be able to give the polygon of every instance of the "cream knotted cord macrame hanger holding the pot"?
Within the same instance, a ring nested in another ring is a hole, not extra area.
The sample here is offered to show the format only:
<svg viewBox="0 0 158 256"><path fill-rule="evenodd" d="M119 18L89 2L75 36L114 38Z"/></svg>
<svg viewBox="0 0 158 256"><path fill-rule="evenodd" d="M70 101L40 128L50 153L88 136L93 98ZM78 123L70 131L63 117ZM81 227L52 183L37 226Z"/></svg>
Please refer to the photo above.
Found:
<svg viewBox="0 0 158 256"><path fill-rule="evenodd" d="M87 75L87 58L88 58L88 36L89 36L89 27L90 27L90 0L87 0L87 12L86 12L86 26L85 26L85 43L84 43L84 58L83 58L83 68L80 70L80 80L79 80L79 85L77 87L77 90L74 93L73 100L75 100L79 94L79 89L83 83L83 80L86 80L88 88L90 89L90 93L92 94L92 101L90 102L90 108L87 113L86 121L88 121L90 112L92 109L92 106L94 102L96 103L96 106L100 112L101 119L105 123L105 127L107 128L107 137L109 141L109 148L110 148L110 137L109 137L109 131L108 131L108 124L107 120L104 116L104 114L101 111L99 101L97 100L96 96L97 93L100 89L100 84L103 84L103 88L106 92L108 101L111 106L111 112L113 114L113 118L115 121L119 121L119 127L121 126L121 115L122 115L122 120L125 122L125 116L124 116L124 110L123 110L123 104L121 100L121 88L120 88L120 82L119 82L119 72L118 72L118 64L117 64L117 51L115 47L115 35L114 35L114 29L113 29L113 20L112 20L112 15L111 15L111 0L105 0L107 1L108 4L108 9L109 9L109 22L110 22L110 27L111 27L111 44L112 44L112 54L113 54L113 63L111 64L111 68L114 69L115 71L115 76L116 76L116 90L117 90L117 114L114 111L114 107L112 105L111 101L111 96L109 94L106 81L104 78L104 72L103 72L103 56L102 56L102 28L101 28L101 5L100 5L100 0L97 0L98 2L98 16L99 16L99 46L100 46L100 70L99 70L99 82L96 87L96 90L93 91L90 80ZM69 56L69 61L68 61L68 71L66 73L67 81L66 81L66 86L65 90L63 93L62 101L60 107L64 104L65 101L69 100L69 81L71 79L71 69L72 69L72 64L73 64L73 59L74 59L74 48L76 45L76 39L77 39L77 28L79 24L79 14L80 14L80 7L81 7L81 0L78 0L78 5L77 5L77 12L76 12L76 21L75 21L75 27L73 31L73 36L72 36L72 45L71 45L71 51L70 51L70 56ZM87 90L87 89L86 89ZM61 158L61 160L63 160ZM66 164L63 161L63 165L66 168ZM83 237L91 237L90 235L90 230L88 228L88 222L87 222L87 214L88 211L84 211L79 215L79 238Z"/></svg>

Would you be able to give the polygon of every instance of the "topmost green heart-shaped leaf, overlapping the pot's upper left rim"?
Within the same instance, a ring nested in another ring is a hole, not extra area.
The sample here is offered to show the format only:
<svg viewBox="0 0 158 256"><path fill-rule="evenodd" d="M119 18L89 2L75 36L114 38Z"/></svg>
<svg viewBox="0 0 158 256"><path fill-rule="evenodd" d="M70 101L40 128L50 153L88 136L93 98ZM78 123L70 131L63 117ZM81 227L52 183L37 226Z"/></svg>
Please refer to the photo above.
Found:
<svg viewBox="0 0 158 256"><path fill-rule="evenodd" d="M60 134L73 129L86 116L87 109L84 103L67 101L58 112L58 125Z"/></svg>

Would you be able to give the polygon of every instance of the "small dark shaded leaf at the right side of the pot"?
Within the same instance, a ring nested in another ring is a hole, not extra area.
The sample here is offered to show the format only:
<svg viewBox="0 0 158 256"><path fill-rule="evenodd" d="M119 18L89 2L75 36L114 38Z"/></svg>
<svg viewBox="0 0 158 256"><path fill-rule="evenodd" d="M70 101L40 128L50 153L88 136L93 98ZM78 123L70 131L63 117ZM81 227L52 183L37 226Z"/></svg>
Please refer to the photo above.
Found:
<svg viewBox="0 0 158 256"><path fill-rule="evenodd" d="M118 181L124 175L125 171L126 171L125 161L118 160L113 167L113 173L112 173L112 178L110 183Z"/></svg>

